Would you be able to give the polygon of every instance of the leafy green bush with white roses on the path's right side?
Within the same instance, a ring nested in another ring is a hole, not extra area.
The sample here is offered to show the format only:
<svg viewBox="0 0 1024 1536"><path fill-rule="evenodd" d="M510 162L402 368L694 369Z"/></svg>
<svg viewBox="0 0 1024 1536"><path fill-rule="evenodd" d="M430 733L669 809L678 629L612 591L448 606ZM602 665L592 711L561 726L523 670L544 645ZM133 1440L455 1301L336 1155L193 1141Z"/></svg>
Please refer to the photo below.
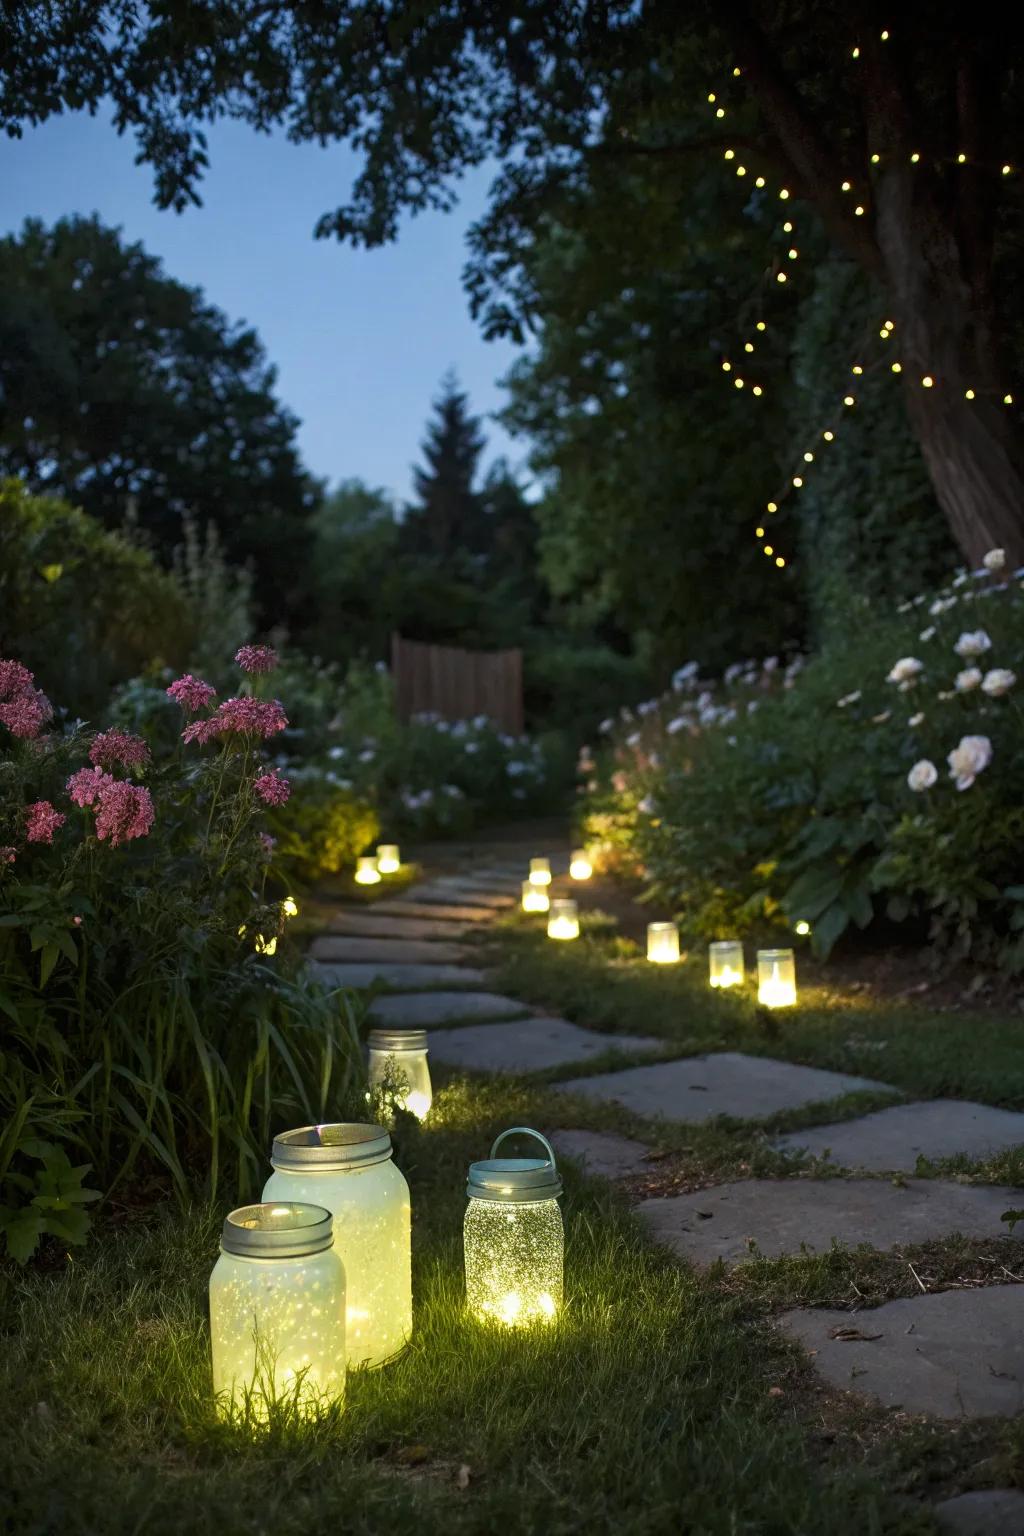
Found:
<svg viewBox="0 0 1024 1536"><path fill-rule="evenodd" d="M817 656L680 667L600 734L580 836L695 934L803 917L824 955L874 925L1024 971L1022 587L993 550L900 611L861 601Z"/></svg>

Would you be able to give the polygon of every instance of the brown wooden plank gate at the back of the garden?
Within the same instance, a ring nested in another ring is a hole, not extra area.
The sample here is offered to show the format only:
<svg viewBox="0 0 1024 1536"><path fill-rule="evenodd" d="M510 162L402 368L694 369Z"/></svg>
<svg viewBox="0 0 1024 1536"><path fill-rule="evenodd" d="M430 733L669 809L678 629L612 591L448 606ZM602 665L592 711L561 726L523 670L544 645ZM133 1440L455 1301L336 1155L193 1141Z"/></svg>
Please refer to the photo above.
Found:
<svg viewBox="0 0 1024 1536"><path fill-rule="evenodd" d="M439 714L444 720L488 719L522 734L522 651L464 651L391 636L391 677L399 719Z"/></svg>

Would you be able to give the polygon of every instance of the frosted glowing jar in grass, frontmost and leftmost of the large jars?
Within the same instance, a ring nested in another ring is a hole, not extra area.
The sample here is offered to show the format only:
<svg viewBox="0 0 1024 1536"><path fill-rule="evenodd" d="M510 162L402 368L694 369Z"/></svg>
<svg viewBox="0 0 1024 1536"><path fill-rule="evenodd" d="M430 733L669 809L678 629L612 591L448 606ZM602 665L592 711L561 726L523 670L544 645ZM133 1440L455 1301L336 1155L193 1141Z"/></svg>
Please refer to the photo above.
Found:
<svg viewBox="0 0 1024 1536"><path fill-rule="evenodd" d="M309 1415L345 1395L345 1270L321 1206L241 1206L210 1275L213 1392L256 1422L281 1402Z"/></svg>

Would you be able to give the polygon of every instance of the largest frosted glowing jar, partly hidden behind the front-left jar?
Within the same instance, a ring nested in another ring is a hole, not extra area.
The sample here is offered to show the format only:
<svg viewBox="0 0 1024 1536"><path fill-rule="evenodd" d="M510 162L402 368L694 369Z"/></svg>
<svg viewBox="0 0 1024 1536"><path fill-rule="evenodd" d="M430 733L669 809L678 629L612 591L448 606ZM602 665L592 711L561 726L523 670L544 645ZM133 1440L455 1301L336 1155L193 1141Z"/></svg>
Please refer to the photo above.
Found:
<svg viewBox="0 0 1024 1536"><path fill-rule="evenodd" d="M382 1366L413 1332L408 1184L382 1126L302 1126L273 1138L270 1201L312 1201L335 1218L345 1266L350 1369Z"/></svg>

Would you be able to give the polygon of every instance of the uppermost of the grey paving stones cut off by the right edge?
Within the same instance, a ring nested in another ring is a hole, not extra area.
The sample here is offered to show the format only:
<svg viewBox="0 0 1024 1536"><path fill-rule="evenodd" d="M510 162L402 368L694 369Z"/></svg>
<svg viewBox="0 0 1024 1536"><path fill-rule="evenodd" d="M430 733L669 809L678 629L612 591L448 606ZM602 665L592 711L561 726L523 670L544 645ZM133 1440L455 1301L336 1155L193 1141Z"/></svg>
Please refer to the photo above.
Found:
<svg viewBox="0 0 1024 1536"><path fill-rule="evenodd" d="M870 1172L909 1172L918 1157L987 1158L1024 1143L1024 1115L961 1098L933 1098L924 1104L898 1104L837 1126L815 1126L780 1137L780 1150L806 1150L838 1167Z"/></svg>

